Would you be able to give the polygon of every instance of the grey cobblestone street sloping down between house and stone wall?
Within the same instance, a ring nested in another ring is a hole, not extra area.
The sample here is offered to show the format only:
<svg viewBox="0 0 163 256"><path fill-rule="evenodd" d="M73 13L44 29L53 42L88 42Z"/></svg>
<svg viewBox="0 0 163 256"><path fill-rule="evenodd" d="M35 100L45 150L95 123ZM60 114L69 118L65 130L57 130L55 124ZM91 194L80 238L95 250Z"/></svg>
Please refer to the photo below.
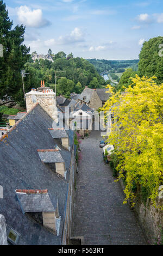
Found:
<svg viewBox="0 0 163 256"><path fill-rule="evenodd" d="M124 194L104 164L99 131L82 140L74 199L72 236L84 236L84 245L146 245L145 236Z"/></svg>

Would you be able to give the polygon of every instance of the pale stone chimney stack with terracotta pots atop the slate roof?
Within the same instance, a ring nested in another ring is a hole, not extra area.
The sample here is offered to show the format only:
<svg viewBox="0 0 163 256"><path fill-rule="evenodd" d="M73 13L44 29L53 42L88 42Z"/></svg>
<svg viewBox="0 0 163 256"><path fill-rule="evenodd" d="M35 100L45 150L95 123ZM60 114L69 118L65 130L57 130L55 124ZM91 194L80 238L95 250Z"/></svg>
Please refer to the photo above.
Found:
<svg viewBox="0 0 163 256"><path fill-rule="evenodd" d="M31 92L26 93L26 107L27 112L30 111L34 105L39 102L40 106L57 121L58 111L56 105L56 95L49 87L45 87L45 83L41 81L41 87L33 88Z"/></svg>

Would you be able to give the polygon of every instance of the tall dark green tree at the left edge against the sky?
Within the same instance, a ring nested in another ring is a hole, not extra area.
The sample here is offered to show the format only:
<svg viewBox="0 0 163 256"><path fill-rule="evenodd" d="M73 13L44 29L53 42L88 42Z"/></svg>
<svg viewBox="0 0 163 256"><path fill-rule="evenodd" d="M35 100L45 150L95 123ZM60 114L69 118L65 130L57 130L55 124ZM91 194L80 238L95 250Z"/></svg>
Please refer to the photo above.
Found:
<svg viewBox="0 0 163 256"><path fill-rule="evenodd" d="M25 27L12 29L12 21L3 1L0 1L0 44L3 45L3 57L0 57L0 98L10 97L17 101L22 88L21 69L29 58L29 50L23 45ZM23 94L21 95L23 98Z"/></svg>

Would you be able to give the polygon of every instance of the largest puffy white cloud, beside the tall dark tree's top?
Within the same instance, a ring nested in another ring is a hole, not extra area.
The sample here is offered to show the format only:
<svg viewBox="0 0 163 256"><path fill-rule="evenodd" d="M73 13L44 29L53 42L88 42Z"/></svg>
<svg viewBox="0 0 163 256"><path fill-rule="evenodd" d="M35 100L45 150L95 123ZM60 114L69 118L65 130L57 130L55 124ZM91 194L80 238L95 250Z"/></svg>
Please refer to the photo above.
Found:
<svg viewBox="0 0 163 256"><path fill-rule="evenodd" d="M17 9L18 21L27 27L45 27L50 24L49 21L43 19L41 9L30 9L27 5L22 5Z"/></svg>

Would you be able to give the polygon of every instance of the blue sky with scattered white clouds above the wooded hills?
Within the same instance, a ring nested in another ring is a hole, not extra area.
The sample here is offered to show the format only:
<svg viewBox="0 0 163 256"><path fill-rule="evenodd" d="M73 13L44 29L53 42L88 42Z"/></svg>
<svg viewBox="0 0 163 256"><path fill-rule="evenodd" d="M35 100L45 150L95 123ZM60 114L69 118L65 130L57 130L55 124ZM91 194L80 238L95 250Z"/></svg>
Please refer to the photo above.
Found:
<svg viewBox="0 0 163 256"><path fill-rule="evenodd" d="M31 53L137 59L144 41L162 35L163 1L4 1L14 26L26 26Z"/></svg>

